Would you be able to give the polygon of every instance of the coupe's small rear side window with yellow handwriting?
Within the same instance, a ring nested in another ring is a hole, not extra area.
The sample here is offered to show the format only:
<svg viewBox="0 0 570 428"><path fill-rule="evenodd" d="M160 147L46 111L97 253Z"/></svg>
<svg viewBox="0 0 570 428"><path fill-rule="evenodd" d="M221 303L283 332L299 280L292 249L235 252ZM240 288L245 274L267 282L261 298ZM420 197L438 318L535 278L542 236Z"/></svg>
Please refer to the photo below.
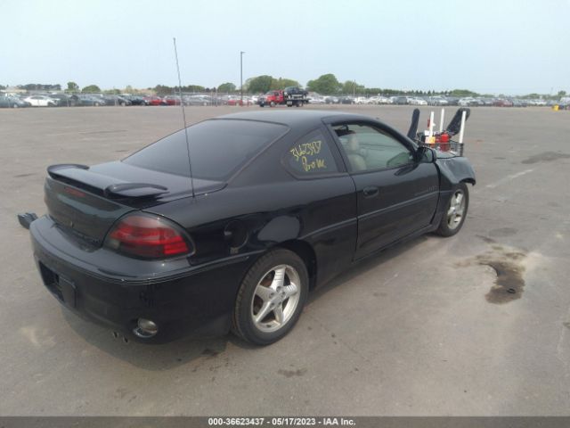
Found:
<svg viewBox="0 0 570 428"><path fill-rule="evenodd" d="M304 136L290 147L283 161L297 176L309 177L338 172L329 144L319 130Z"/></svg>

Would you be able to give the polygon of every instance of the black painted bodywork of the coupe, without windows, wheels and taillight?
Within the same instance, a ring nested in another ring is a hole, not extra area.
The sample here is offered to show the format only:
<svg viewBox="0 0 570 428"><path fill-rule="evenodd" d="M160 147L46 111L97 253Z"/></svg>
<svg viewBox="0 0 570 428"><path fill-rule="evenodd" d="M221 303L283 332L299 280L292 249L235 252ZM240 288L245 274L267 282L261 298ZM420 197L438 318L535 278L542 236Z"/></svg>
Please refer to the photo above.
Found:
<svg viewBox="0 0 570 428"><path fill-rule="evenodd" d="M134 173L146 183L159 177L157 184L176 189L175 194L112 201L90 192L85 183L46 179L48 215L34 221L30 232L45 285L65 306L126 334L138 317L156 320L159 334L150 342L167 342L191 331L221 333L229 328L242 278L266 251L283 246L302 253L310 265L312 285L324 284L357 259L434 230L453 186L475 181L465 158L416 161L398 169L351 175L337 142L326 131L333 121L378 123L415 150L407 137L370 118L336 112L330 116L325 111L258 111L229 117L283 123L290 131L228 183L195 180L201 185L195 197L184 189L181 177L168 183L167 174L145 176L131 166L122 170L122 162L92 170L124 181ZM315 129L329 139L338 173L298 179L281 158ZM369 185L379 187L375 198L362 194ZM66 187L71 190L65 191ZM77 192L84 194L76 196ZM135 210L183 227L196 253L141 260L106 248L102 242L111 226ZM73 304L53 288L53 278L59 276L62 287L73 284Z"/></svg>

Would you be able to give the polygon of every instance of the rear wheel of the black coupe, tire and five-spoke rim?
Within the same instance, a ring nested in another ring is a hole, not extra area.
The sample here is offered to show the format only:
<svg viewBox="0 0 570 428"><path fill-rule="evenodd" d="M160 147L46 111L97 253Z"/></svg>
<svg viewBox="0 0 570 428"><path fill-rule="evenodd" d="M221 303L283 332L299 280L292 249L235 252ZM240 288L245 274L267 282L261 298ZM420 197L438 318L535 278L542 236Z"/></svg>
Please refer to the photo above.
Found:
<svg viewBox="0 0 570 428"><path fill-rule="evenodd" d="M268 252L249 269L235 302L232 331L256 345L279 341L301 315L309 277L296 253Z"/></svg>

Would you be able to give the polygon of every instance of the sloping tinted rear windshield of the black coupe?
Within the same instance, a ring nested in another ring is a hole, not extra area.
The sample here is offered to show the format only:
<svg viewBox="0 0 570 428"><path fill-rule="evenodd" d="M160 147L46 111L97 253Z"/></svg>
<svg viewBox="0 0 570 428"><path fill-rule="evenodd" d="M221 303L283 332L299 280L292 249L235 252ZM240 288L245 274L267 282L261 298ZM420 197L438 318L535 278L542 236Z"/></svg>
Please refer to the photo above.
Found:
<svg viewBox="0 0 570 428"><path fill-rule="evenodd" d="M224 181L288 128L250 120L216 119L188 128L192 176ZM129 165L190 177L184 130L124 160Z"/></svg>

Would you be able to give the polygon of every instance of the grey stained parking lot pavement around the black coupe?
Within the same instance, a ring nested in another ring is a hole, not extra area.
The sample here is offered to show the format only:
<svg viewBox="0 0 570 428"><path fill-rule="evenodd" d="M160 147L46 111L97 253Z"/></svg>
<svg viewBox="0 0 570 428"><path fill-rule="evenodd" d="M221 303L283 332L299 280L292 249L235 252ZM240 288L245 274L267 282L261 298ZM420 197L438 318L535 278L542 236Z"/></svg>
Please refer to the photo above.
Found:
<svg viewBox="0 0 570 428"><path fill-rule="evenodd" d="M412 110L334 109L404 132ZM367 259L266 348L126 345L69 315L34 267L16 213L45 212L48 165L116 160L178 128L174 107L0 111L0 415L567 415L570 112L473 109L477 185L460 234ZM513 300L490 292L498 275Z"/></svg>

